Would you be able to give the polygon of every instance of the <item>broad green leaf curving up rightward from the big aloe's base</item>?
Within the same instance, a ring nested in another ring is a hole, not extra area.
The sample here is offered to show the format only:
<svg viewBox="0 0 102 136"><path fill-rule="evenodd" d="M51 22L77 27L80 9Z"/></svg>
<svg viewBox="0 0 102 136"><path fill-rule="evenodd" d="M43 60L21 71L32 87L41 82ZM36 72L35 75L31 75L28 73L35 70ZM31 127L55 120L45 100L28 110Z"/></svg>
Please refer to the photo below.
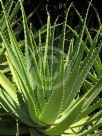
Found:
<svg viewBox="0 0 102 136"><path fill-rule="evenodd" d="M78 103L76 103L68 112L66 118L63 121L45 130L44 133L48 135L59 135L63 133L74 122L75 118L78 116L79 111L82 108L82 105L83 100L79 100Z"/></svg>

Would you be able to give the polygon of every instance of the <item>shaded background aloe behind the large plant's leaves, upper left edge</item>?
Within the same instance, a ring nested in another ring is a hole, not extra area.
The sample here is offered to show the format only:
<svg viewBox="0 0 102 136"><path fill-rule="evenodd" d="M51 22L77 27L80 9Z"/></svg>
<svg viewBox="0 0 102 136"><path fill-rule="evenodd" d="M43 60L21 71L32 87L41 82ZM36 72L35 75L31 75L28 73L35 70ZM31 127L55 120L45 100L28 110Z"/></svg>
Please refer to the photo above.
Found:
<svg viewBox="0 0 102 136"><path fill-rule="evenodd" d="M12 1L12 0L10 0L9 2L6 1L5 2L5 10L9 15L11 26L12 27L15 26L15 24L17 24L16 15L17 15L17 13L19 11L19 2L17 2L15 4L14 1ZM4 18L4 15L3 15L2 11L0 12L0 27L4 31L5 36L8 37L5 18ZM9 42L9 40L8 40L8 42ZM0 69L4 73L6 73L6 72L8 72L9 69L7 67L7 62L5 62L5 56L3 55L3 52L5 50L2 48L1 43L2 43L2 39L0 37Z"/></svg>

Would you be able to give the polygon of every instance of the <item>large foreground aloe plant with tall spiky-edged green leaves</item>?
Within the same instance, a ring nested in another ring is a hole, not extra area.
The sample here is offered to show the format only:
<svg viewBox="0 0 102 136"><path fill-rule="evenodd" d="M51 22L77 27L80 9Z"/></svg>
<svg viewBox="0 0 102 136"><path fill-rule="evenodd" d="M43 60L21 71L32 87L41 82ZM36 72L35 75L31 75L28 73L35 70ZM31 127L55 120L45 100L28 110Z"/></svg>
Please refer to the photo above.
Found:
<svg viewBox="0 0 102 136"><path fill-rule="evenodd" d="M1 0L10 42L7 42L2 29L0 36L11 75L9 79L0 71L1 106L25 124L31 136L86 136L97 133L102 126L102 99L95 99L102 90L102 77L93 82L95 76L91 71L102 46L101 27L90 47L83 38L85 32L89 32L86 22L91 2L79 34L72 37L69 43L67 32L70 26L67 19L72 4L61 24L61 33L56 35L59 24L55 21L51 26L47 13L47 26L33 34L28 27L22 2L19 1L24 26L24 52L18 46ZM68 49L66 53L65 46ZM84 53L87 53L86 57ZM83 84L88 87L80 95ZM93 113L96 109L99 111Z"/></svg>

